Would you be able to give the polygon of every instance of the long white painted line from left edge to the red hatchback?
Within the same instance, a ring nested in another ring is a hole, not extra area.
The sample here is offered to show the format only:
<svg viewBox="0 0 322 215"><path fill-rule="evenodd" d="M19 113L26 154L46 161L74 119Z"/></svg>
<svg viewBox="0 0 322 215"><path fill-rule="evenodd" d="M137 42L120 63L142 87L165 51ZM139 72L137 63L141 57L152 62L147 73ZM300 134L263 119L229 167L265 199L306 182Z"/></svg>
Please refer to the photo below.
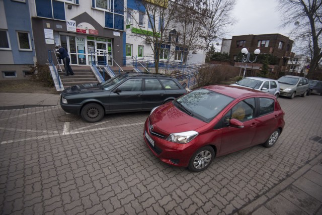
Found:
<svg viewBox="0 0 322 215"><path fill-rule="evenodd" d="M93 131L95 132L95 131L116 129L116 128L129 127L129 126L139 126L139 125L143 125L143 124L144 123L131 123L131 124L125 124L125 125L119 125L119 126L110 126L110 127L105 127L105 128L96 128L96 129L83 130L83 131L79 131L77 129L75 131L66 132L65 134L63 132L62 134L42 135L42 136L36 136L36 137L31 137L31 138L23 138L23 139L18 139L18 140L6 140L6 141L2 141L0 144L8 144L8 143L21 142L21 141L36 140L36 139L46 139L46 138L51 138L51 137L58 137L58 136L64 136L64 135L73 135L73 134L93 132ZM65 127L64 127L64 131L65 131Z"/></svg>

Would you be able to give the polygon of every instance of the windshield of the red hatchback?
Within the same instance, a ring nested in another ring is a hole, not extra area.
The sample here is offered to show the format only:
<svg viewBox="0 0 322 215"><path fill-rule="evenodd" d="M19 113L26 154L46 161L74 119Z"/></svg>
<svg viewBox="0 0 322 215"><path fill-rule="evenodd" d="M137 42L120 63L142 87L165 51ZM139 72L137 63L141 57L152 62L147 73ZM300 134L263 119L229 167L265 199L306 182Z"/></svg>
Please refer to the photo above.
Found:
<svg viewBox="0 0 322 215"><path fill-rule="evenodd" d="M233 98L208 89L197 89L174 101L181 111L209 123Z"/></svg>

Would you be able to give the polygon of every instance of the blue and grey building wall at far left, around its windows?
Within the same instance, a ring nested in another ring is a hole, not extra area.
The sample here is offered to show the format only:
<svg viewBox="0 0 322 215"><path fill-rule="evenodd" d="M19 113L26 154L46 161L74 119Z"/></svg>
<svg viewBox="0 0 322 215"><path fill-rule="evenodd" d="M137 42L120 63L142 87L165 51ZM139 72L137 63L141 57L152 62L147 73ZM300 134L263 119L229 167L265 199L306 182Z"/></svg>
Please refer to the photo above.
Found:
<svg viewBox="0 0 322 215"><path fill-rule="evenodd" d="M31 30L28 0L0 1L0 29L8 31L10 50L0 50L0 79L22 79L31 65L34 65L35 50ZM30 50L20 50L17 32L29 34ZM15 74L7 76L7 72Z"/></svg>

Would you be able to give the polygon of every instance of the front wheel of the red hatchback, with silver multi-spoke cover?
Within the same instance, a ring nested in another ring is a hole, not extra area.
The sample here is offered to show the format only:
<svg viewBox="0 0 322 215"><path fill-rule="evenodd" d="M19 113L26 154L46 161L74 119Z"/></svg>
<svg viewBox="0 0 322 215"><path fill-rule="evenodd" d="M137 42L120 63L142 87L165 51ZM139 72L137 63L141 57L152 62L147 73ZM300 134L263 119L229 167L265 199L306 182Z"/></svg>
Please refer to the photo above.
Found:
<svg viewBox="0 0 322 215"><path fill-rule="evenodd" d="M200 172L208 168L215 157L215 151L211 146L198 149L189 161L189 170Z"/></svg>

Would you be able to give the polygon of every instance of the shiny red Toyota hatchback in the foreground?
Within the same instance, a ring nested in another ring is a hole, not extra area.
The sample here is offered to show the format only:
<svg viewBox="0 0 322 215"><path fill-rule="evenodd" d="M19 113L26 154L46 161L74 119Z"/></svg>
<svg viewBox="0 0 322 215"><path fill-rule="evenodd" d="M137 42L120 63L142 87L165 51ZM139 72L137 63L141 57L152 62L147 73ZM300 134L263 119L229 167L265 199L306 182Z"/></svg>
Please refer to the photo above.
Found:
<svg viewBox="0 0 322 215"><path fill-rule="evenodd" d="M273 146L284 128L283 117L271 94L213 85L155 107L143 137L162 161L199 172L215 156L258 144Z"/></svg>

